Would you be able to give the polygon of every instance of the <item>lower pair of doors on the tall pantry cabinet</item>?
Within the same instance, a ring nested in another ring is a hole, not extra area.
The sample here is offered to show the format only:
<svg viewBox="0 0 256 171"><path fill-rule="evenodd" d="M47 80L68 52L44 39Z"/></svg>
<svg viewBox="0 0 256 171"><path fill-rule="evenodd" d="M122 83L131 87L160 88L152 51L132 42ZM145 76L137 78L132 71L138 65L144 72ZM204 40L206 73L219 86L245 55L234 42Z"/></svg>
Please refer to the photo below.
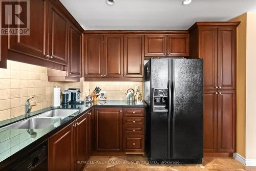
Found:
<svg viewBox="0 0 256 171"><path fill-rule="evenodd" d="M236 151L236 91L204 91L204 152Z"/></svg>

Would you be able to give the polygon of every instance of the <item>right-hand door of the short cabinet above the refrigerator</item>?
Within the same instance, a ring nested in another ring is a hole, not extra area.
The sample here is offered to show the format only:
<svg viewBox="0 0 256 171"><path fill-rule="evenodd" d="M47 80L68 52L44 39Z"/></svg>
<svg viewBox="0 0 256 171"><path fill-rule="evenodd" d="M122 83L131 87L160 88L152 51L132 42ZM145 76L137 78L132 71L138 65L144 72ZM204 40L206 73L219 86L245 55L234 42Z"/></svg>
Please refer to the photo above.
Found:
<svg viewBox="0 0 256 171"><path fill-rule="evenodd" d="M189 56L189 34L168 35L167 56Z"/></svg>

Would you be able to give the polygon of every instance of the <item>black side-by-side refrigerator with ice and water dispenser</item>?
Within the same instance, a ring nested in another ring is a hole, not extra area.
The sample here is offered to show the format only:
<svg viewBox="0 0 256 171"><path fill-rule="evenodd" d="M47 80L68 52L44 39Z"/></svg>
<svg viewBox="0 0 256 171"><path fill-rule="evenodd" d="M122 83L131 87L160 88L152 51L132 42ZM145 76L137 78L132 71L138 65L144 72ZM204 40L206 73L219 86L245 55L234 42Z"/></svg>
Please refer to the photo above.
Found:
<svg viewBox="0 0 256 171"><path fill-rule="evenodd" d="M148 60L144 101L145 149L150 163L202 163L203 60Z"/></svg>

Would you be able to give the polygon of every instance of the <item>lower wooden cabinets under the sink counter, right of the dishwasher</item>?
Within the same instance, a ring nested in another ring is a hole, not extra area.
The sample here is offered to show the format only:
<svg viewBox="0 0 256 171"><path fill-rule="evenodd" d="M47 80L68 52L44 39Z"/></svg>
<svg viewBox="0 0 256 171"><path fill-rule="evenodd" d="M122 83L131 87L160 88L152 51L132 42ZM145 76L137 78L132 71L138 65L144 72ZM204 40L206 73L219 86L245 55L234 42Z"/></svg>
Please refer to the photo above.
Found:
<svg viewBox="0 0 256 171"><path fill-rule="evenodd" d="M81 170L91 155L91 113L79 117L73 123L48 140L48 170Z"/></svg>

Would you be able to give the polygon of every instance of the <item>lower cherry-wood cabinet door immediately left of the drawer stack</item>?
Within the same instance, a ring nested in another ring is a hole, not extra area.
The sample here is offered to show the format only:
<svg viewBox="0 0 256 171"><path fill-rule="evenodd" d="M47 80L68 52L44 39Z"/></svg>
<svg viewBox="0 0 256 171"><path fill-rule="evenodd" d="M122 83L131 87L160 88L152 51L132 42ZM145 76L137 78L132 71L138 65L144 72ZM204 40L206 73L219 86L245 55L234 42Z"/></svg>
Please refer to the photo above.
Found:
<svg viewBox="0 0 256 171"><path fill-rule="evenodd" d="M95 145L98 152L122 151L122 108L95 109Z"/></svg>

